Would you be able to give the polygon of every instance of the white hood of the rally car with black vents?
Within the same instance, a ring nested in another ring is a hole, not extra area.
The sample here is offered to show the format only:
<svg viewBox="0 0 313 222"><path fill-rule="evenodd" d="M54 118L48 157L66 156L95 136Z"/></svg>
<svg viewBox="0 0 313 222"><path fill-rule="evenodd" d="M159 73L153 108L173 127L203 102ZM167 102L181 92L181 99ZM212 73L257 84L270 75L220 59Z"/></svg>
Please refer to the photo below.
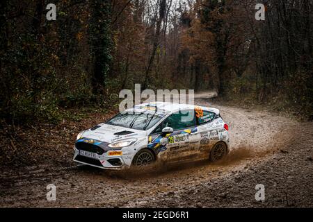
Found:
<svg viewBox="0 0 313 222"><path fill-rule="evenodd" d="M105 123L98 124L81 134L81 137L97 139L108 143L115 142L120 139L139 138L145 136L147 136L147 133L143 130L134 130Z"/></svg>

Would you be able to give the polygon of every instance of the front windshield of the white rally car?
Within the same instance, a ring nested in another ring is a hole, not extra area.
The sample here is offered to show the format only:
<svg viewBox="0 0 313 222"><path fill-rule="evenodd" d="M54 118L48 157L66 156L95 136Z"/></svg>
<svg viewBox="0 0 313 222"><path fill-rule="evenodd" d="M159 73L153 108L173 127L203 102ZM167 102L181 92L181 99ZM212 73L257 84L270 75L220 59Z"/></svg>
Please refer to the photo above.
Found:
<svg viewBox="0 0 313 222"><path fill-rule="evenodd" d="M121 112L107 121L106 124L135 130L149 130L161 119L162 117L154 112Z"/></svg>

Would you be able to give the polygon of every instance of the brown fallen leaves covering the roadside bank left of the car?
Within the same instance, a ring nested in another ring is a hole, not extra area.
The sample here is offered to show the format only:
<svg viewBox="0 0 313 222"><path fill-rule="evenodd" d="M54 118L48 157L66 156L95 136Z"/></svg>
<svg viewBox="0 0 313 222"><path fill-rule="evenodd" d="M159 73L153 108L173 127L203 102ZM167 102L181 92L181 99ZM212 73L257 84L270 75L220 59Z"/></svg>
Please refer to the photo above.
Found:
<svg viewBox="0 0 313 222"><path fill-rule="evenodd" d="M72 147L77 134L109 119L115 111L89 112L82 120L57 124L33 123L12 126L1 121L0 166L23 167L33 164L72 164Z"/></svg>

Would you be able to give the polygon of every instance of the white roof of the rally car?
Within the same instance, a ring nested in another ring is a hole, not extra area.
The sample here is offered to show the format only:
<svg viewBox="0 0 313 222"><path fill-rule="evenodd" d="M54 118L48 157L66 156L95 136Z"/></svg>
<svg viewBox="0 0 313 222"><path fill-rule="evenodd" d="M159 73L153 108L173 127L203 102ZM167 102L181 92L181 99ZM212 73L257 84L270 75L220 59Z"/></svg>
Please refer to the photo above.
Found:
<svg viewBox="0 0 313 222"><path fill-rule="evenodd" d="M165 112L177 112L179 110L194 110L195 108L202 108L202 110L207 110L210 112L214 112L216 114L220 114L220 110L216 108L208 108L201 105L191 105L185 103L169 103L169 102L151 102L151 103L142 103L134 106L134 109L141 110L159 110Z"/></svg>

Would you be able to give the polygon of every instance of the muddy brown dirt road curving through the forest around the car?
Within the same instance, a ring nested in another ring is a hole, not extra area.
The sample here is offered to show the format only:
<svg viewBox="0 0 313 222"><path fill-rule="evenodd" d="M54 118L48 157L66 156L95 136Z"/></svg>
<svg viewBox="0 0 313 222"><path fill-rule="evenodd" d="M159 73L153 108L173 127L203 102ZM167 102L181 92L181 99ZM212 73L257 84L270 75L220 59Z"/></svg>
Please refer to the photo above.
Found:
<svg viewBox="0 0 313 222"><path fill-rule="evenodd" d="M145 172L51 164L0 175L0 207L313 207L313 124L271 112L214 105L230 125L232 151ZM47 185L56 201L47 201ZM263 184L266 199L255 200Z"/></svg>

